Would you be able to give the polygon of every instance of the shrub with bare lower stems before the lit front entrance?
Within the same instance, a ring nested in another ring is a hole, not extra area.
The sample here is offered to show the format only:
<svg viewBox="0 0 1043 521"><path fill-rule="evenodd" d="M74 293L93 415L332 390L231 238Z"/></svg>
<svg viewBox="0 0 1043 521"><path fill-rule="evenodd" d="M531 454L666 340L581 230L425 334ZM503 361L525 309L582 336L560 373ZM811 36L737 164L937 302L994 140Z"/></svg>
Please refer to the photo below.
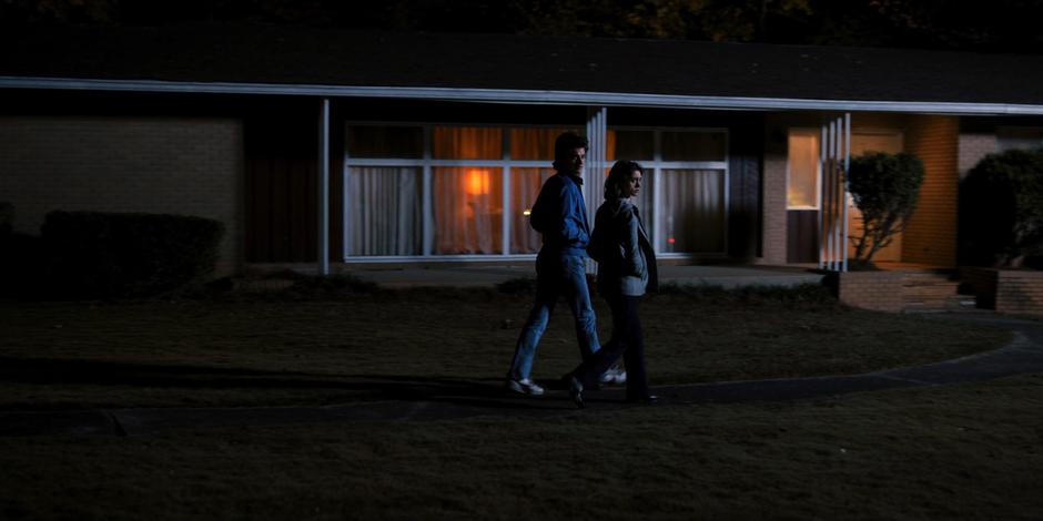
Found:
<svg viewBox="0 0 1043 521"><path fill-rule="evenodd" d="M851 237L855 259L871 265L873 255L905 229L922 184L923 162L915 155L867 152L851 159L848 190L862 212L862 233Z"/></svg>

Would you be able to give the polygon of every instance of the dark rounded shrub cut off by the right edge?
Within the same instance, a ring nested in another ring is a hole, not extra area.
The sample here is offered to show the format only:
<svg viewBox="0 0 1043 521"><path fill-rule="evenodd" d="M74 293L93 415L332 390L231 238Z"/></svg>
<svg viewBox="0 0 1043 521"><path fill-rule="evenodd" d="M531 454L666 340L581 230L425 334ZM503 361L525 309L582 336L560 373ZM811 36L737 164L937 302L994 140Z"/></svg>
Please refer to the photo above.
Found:
<svg viewBox="0 0 1043 521"><path fill-rule="evenodd" d="M1043 254L1043 150L986 155L960 185L961 262L1019 267Z"/></svg>

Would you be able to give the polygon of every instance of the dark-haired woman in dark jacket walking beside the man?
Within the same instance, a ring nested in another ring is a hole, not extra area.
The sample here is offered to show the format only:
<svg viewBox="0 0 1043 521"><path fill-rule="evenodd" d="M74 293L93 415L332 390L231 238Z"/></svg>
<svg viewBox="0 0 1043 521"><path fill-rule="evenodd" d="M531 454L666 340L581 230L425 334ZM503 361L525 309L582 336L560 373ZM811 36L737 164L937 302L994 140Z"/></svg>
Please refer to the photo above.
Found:
<svg viewBox="0 0 1043 521"><path fill-rule="evenodd" d="M638 302L658 289L656 254L631 197L641 191L641 165L618 161L605 180L605 203L598 208L587 253L598 262L597 287L612 311L612 338L566 375L569 396L580 408L589 388L620 355L627 367L627 400L651 402L645 374L645 343Z"/></svg>

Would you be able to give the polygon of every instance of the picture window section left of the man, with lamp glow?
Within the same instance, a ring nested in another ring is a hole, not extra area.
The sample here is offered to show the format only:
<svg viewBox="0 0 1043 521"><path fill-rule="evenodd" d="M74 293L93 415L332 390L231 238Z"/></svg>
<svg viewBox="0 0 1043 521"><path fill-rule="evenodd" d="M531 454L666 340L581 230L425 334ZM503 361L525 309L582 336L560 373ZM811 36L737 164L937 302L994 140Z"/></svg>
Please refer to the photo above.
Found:
<svg viewBox="0 0 1043 521"><path fill-rule="evenodd" d="M345 259L535 254L528 213L569 130L348 124Z"/></svg>

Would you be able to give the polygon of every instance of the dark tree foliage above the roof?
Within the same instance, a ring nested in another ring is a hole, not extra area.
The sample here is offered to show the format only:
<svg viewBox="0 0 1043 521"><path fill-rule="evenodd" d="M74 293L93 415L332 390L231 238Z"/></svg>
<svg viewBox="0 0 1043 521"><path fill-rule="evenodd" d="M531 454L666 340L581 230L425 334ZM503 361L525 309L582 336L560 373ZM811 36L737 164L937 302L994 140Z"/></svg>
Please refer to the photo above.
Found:
<svg viewBox="0 0 1043 521"><path fill-rule="evenodd" d="M1043 52L1043 2L993 0L0 0L0 25L291 23Z"/></svg>

